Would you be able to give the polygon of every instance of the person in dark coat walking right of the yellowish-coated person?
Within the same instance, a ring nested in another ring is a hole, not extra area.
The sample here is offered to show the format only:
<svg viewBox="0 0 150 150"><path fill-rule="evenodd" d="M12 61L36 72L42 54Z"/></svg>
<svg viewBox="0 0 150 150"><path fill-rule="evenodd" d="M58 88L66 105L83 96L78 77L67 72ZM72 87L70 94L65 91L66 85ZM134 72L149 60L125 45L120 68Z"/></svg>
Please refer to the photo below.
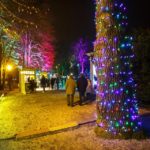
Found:
<svg viewBox="0 0 150 150"><path fill-rule="evenodd" d="M79 97L80 97L80 101L79 101L79 105L82 105L83 101L85 100L85 91L87 88L87 79L84 77L83 74L80 74L80 77L77 81L77 88L79 91Z"/></svg>

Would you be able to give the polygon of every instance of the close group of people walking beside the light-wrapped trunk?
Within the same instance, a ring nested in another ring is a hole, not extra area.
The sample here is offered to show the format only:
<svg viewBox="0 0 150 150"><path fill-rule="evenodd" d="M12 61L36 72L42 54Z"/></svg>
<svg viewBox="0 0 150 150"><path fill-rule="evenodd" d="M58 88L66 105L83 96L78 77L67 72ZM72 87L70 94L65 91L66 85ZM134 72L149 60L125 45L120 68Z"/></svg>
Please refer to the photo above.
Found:
<svg viewBox="0 0 150 150"><path fill-rule="evenodd" d="M82 106L86 100L95 100L96 94L92 86L91 80L85 78L84 74L80 74L77 82L70 75L66 81L66 95L68 106L74 106L74 95L76 87L79 92L79 105Z"/></svg>

